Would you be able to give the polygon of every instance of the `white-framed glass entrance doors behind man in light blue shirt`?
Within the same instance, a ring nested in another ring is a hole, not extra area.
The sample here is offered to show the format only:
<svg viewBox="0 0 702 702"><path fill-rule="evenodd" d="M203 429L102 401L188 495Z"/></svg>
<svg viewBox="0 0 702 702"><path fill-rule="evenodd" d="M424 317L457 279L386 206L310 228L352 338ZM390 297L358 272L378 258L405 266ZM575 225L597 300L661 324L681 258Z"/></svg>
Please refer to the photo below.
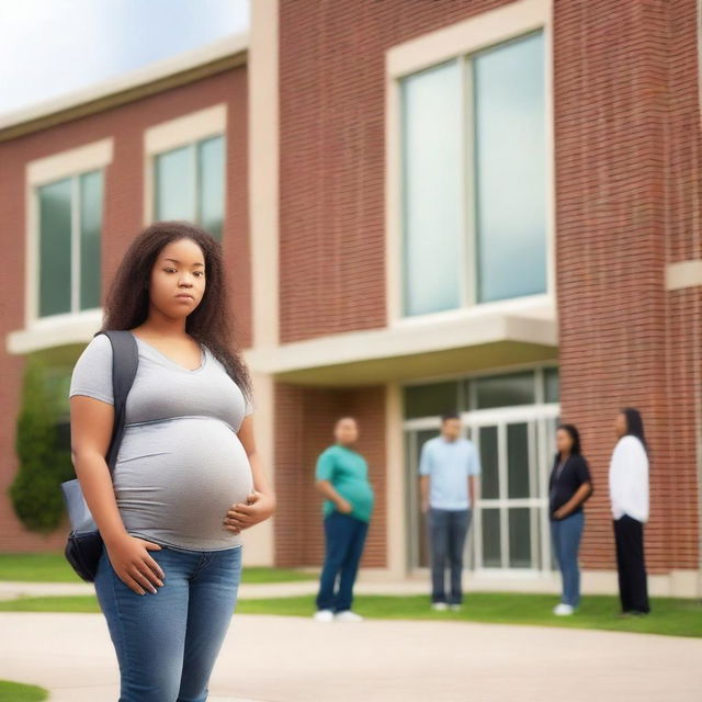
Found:
<svg viewBox="0 0 702 702"><path fill-rule="evenodd" d="M557 407L548 405L462 414L483 468L466 543L467 567L552 569L547 494L557 415ZM406 431L410 568L429 565L418 465L422 444L439 432L435 419L412 423Z"/></svg>

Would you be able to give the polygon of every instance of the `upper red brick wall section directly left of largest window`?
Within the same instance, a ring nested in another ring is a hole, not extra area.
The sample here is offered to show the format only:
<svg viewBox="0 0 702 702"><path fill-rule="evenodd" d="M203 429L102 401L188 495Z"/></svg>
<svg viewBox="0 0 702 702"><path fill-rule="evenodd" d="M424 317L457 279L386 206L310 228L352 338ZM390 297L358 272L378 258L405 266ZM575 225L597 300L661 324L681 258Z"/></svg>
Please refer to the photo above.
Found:
<svg viewBox="0 0 702 702"><path fill-rule="evenodd" d="M385 50L505 0L280 2L280 325L385 320Z"/></svg>

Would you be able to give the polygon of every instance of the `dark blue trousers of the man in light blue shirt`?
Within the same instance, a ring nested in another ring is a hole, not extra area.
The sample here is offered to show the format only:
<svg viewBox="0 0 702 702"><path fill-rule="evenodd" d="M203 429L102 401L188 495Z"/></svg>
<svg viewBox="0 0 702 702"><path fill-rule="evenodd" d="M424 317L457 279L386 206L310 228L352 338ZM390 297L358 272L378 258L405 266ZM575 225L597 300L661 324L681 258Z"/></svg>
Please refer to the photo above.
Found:
<svg viewBox="0 0 702 702"><path fill-rule="evenodd" d="M431 545L431 601L461 604L463 602L463 547L471 523L471 510L429 510ZM446 599L446 565L451 571L451 597Z"/></svg>

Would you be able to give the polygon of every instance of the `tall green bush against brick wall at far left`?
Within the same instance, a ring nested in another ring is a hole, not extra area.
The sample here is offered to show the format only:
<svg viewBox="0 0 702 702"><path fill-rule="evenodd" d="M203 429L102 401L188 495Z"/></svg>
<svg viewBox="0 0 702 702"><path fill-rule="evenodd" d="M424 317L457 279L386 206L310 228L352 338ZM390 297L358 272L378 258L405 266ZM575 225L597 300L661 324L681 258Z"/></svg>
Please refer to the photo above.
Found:
<svg viewBox="0 0 702 702"><path fill-rule="evenodd" d="M70 446L61 441L65 378L38 358L27 356L15 452L20 461L10 499L30 530L54 531L65 507L60 484L75 476Z"/></svg>

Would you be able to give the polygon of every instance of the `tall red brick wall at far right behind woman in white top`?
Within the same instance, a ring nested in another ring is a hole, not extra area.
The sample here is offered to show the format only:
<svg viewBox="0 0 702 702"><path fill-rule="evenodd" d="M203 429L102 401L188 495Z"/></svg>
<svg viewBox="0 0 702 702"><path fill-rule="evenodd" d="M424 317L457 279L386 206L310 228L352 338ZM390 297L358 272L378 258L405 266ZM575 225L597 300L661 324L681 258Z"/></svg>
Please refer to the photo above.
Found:
<svg viewBox="0 0 702 702"><path fill-rule="evenodd" d="M556 2L554 90L562 416L596 492L582 558L614 567L612 422L638 407L652 446L652 573L699 567L700 290L666 264L700 257L695 1Z"/></svg>

